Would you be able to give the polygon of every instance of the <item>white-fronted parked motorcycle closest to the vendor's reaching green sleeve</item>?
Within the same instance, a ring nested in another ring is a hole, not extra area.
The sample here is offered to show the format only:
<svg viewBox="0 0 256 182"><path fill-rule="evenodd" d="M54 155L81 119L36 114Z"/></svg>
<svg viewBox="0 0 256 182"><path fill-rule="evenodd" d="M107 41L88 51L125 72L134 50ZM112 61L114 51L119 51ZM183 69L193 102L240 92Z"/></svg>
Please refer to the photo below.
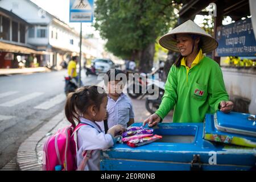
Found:
<svg viewBox="0 0 256 182"><path fill-rule="evenodd" d="M151 114L154 114L156 110L158 110L161 102L162 102L162 98L164 95L164 82L163 81L154 81L151 84L154 84L154 94L150 94L148 95L148 97L146 98L146 109L148 112L150 112ZM150 86L150 85L148 85ZM153 98L151 96L157 97L156 99Z"/></svg>

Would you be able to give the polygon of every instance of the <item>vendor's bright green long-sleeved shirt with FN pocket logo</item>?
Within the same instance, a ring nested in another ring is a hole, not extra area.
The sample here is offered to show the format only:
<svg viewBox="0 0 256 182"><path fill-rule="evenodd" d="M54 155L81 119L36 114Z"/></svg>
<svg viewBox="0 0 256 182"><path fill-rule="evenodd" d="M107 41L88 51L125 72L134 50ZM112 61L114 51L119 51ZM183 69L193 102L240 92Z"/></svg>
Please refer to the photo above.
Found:
<svg viewBox="0 0 256 182"><path fill-rule="evenodd" d="M220 66L204 56L188 73L184 65L172 65L156 114L163 119L174 109L173 122L203 122L206 113L228 100Z"/></svg>

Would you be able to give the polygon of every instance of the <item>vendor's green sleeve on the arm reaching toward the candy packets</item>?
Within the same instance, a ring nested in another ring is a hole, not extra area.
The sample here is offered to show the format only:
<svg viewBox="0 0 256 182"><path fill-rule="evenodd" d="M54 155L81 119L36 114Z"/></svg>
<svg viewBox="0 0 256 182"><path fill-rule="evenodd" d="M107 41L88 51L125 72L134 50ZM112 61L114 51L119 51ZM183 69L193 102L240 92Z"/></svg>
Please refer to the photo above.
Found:
<svg viewBox="0 0 256 182"><path fill-rule="evenodd" d="M174 109L177 102L177 77L176 77L176 66L172 65L166 84L164 86L164 96L159 109L155 112L160 118L166 117L170 110Z"/></svg>

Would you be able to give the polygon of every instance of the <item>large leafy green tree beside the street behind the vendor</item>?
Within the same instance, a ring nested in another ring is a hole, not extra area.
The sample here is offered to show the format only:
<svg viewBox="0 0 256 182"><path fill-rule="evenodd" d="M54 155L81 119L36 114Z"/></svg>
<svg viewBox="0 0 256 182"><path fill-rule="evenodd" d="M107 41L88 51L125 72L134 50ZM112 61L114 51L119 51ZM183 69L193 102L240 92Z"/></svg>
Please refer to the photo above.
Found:
<svg viewBox="0 0 256 182"><path fill-rule="evenodd" d="M143 72L151 70L156 38L176 24L180 1L97 0L94 27L106 39L106 49L123 59L139 61Z"/></svg>

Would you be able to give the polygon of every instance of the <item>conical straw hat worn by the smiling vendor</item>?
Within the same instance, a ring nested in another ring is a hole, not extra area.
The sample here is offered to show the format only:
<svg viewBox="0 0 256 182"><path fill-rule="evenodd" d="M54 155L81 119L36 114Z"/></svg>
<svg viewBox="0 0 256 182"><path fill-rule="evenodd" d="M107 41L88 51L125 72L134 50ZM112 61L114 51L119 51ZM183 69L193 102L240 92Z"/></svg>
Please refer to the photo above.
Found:
<svg viewBox="0 0 256 182"><path fill-rule="evenodd" d="M211 52L218 47L218 42L212 38L203 28L199 27L192 20L187 20L180 26L174 28L174 30L168 32L168 34L162 36L159 39L159 44L170 51L180 52L177 48L175 35L177 34L197 34L200 35L201 49L203 53Z"/></svg>

